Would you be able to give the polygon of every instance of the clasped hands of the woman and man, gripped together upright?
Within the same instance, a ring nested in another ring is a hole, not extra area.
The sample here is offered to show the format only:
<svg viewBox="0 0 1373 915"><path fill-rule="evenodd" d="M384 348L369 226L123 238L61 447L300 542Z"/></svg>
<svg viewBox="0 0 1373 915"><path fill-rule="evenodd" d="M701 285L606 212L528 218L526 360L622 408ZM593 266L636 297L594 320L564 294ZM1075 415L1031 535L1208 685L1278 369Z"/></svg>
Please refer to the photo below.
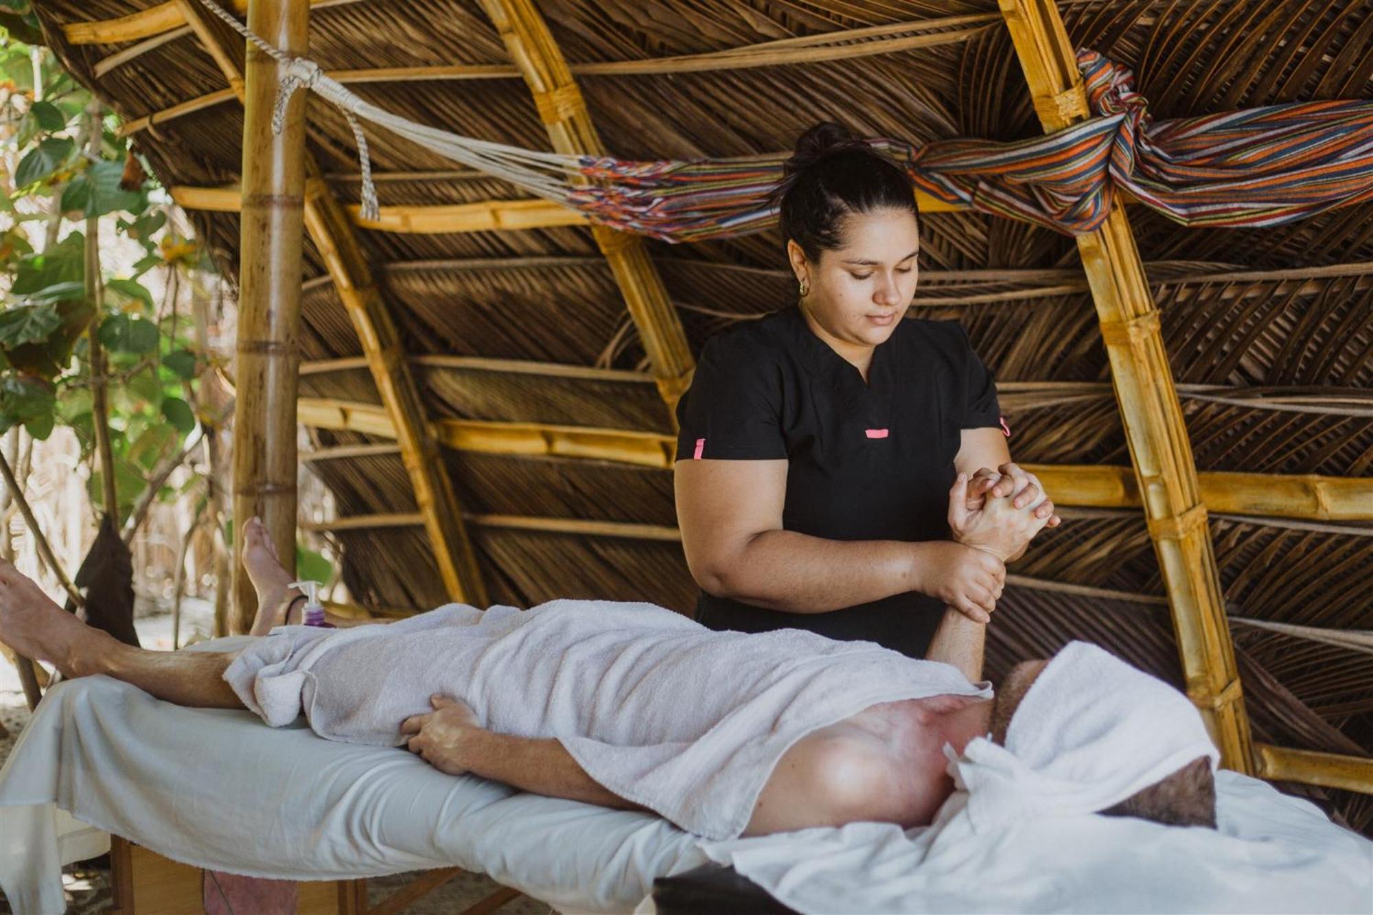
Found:
<svg viewBox="0 0 1373 915"><path fill-rule="evenodd" d="M941 545L927 591L975 622L990 622L1006 583L1006 562L1043 528L1056 528L1043 486L1015 463L958 474L949 490L953 543Z"/></svg>

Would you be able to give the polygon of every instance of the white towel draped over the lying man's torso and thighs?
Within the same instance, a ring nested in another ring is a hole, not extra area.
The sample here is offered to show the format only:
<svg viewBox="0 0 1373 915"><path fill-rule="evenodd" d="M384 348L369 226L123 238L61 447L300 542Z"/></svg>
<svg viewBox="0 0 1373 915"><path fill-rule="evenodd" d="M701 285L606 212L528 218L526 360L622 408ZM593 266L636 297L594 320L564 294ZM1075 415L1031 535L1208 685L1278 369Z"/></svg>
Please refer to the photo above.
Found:
<svg viewBox="0 0 1373 915"><path fill-rule="evenodd" d="M957 669L813 632L711 632L647 603L450 605L386 626L273 631L225 680L268 724L389 746L434 692L557 738L597 783L707 838L743 833L796 741L881 702L990 697Z"/></svg>

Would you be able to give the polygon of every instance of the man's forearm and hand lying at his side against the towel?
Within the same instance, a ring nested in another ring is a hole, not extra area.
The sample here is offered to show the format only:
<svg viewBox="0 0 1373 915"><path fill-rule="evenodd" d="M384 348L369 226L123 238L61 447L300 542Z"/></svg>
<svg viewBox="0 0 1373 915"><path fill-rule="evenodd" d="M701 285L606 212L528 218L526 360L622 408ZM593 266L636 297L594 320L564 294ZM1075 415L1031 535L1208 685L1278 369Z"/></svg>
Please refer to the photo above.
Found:
<svg viewBox="0 0 1373 915"><path fill-rule="evenodd" d="M487 731L463 702L435 695L434 712L405 720L408 747L449 775L481 775L545 797L560 797L619 811L647 809L605 790L586 775L559 741Z"/></svg>

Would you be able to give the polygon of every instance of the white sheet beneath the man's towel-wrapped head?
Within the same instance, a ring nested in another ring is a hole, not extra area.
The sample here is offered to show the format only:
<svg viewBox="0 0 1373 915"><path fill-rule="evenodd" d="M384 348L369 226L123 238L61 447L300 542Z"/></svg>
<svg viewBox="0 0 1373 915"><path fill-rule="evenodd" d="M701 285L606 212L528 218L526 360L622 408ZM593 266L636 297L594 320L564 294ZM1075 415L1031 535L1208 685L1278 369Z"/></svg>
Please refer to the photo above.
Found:
<svg viewBox="0 0 1373 915"><path fill-rule="evenodd" d="M1373 842L1256 779L1216 773L1219 828L1045 816L975 831L968 794L931 827L880 823L706 844L784 904L821 912L1373 912Z"/></svg>

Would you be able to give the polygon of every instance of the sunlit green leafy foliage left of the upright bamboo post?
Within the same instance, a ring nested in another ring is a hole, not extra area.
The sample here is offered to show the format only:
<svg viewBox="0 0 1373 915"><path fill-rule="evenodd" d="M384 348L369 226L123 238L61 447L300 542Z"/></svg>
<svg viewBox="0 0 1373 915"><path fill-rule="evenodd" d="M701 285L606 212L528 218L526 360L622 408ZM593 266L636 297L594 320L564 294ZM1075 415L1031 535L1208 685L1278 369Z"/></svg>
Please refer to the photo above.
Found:
<svg viewBox="0 0 1373 915"><path fill-rule="evenodd" d="M125 184L143 169L125 168L132 152L113 115L92 118L91 93L52 54L34 55L21 43L25 30L37 34L36 25L29 0L0 0L0 29L8 30L0 33L0 124L10 125L0 162L16 163L3 176L12 192L0 195L0 269L8 275L0 297L0 431L22 425L43 438L56 425L71 429L91 460L99 506L93 390L103 386L114 488L128 512L199 422L194 394L210 360L159 290L205 262L198 243L168 225L165 206L150 203L154 183ZM97 155L86 152L91 131L100 132ZM143 249L132 275L128 264L102 258L99 305L85 287L88 220L113 223ZM91 337L106 354L100 378L92 378ZM162 489L159 496L176 496Z"/></svg>

